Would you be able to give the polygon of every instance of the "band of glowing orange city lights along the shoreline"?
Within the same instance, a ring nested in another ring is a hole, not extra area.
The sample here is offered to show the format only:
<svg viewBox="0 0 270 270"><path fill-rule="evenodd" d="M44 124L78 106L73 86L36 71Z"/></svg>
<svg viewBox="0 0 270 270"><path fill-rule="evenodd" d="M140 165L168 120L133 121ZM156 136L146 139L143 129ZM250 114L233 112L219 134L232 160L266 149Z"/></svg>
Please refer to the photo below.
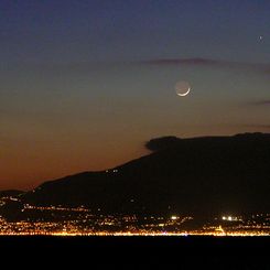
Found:
<svg viewBox="0 0 270 270"><path fill-rule="evenodd" d="M20 198L0 199L0 210ZM1 212L2 213L2 212ZM270 214L219 216L199 223L194 216L94 214L90 209L22 204L21 216L0 216L0 235L51 236L270 236Z"/></svg>

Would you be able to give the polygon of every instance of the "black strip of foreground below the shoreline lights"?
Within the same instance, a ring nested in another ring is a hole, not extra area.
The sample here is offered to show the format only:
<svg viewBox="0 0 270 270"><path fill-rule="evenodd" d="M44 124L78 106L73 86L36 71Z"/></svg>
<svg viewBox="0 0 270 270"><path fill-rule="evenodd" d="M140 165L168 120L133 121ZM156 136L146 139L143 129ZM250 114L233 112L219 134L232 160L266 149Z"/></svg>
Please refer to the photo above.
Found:
<svg viewBox="0 0 270 270"><path fill-rule="evenodd" d="M270 237L0 237L2 258L77 266L169 266L179 269L270 269ZM55 262L54 262L55 263ZM128 263L128 264L127 264ZM187 268L188 267L188 268Z"/></svg>

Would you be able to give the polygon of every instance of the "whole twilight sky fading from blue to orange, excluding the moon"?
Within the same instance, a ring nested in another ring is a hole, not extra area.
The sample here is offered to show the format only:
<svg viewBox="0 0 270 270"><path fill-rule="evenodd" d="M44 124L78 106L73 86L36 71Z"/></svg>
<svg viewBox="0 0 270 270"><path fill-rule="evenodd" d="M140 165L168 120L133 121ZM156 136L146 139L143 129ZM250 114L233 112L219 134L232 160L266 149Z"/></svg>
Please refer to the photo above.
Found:
<svg viewBox="0 0 270 270"><path fill-rule="evenodd" d="M269 0L1 0L0 188L111 168L155 137L269 132Z"/></svg>

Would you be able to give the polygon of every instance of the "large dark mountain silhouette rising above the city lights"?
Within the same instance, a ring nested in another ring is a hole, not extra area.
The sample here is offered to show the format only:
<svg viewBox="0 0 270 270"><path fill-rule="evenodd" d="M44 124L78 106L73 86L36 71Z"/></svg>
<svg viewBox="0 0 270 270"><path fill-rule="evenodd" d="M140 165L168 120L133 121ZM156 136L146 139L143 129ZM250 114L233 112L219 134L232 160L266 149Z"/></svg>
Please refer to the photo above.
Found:
<svg viewBox="0 0 270 270"><path fill-rule="evenodd" d="M165 137L147 147L154 152L108 171L45 182L23 202L99 213L269 212L270 134Z"/></svg>

